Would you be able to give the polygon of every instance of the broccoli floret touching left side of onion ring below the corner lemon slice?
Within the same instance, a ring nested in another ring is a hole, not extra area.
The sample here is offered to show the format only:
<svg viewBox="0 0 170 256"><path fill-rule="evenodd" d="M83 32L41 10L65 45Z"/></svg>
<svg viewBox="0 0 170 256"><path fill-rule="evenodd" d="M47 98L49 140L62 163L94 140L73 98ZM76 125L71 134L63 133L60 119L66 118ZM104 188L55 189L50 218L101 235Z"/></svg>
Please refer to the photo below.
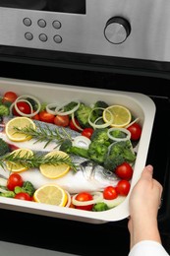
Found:
<svg viewBox="0 0 170 256"><path fill-rule="evenodd" d="M95 129L91 135L90 140L92 142L96 141L98 143L103 143L106 146L110 145L109 137L107 134L108 128Z"/></svg>

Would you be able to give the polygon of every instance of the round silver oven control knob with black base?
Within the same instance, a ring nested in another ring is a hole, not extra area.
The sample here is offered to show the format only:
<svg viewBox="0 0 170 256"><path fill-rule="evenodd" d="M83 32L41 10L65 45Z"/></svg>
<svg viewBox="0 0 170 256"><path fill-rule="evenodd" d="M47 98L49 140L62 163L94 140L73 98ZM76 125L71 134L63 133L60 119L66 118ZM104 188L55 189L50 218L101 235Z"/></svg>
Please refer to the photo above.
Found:
<svg viewBox="0 0 170 256"><path fill-rule="evenodd" d="M113 17L106 23L104 35L106 39L114 44L122 43L131 32L130 23L122 17Z"/></svg>

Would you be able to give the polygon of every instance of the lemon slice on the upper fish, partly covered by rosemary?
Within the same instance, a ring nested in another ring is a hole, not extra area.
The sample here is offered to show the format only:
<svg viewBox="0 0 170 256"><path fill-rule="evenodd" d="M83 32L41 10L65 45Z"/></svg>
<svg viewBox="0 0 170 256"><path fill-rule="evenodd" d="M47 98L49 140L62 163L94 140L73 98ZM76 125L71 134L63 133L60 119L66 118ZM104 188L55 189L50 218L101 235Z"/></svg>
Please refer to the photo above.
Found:
<svg viewBox="0 0 170 256"><path fill-rule="evenodd" d="M35 124L28 117L19 116L19 117L15 117L15 118L11 119L6 124L5 132L6 132L6 135L8 136L8 138L14 142L24 142L24 141L28 141L31 139L31 136L28 136L24 133L16 132L14 127L18 127L18 128L29 127L34 130L36 129Z"/></svg>

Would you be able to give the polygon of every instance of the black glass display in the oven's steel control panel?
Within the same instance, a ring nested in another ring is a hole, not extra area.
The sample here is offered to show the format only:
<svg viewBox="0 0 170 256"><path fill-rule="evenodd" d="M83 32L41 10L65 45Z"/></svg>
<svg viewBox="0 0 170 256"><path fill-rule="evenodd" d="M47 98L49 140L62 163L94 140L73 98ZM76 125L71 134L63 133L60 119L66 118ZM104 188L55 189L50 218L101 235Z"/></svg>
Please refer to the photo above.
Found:
<svg viewBox="0 0 170 256"><path fill-rule="evenodd" d="M85 0L0 0L0 7L85 14Z"/></svg>

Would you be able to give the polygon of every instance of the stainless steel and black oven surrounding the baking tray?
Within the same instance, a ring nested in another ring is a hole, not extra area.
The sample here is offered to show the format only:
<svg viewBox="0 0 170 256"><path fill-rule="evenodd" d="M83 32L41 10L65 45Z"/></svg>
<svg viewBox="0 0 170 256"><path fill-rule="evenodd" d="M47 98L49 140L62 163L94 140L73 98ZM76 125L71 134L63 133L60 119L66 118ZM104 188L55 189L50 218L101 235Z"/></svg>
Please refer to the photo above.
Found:
<svg viewBox="0 0 170 256"><path fill-rule="evenodd" d="M0 0L0 77L136 92L154 101L146 163L154 166L154 177L164 188L158 224L170 253L169 10L167 0ZM129 252L127 219L85 224L0 213L1 241L58 255Z"/></svg>

